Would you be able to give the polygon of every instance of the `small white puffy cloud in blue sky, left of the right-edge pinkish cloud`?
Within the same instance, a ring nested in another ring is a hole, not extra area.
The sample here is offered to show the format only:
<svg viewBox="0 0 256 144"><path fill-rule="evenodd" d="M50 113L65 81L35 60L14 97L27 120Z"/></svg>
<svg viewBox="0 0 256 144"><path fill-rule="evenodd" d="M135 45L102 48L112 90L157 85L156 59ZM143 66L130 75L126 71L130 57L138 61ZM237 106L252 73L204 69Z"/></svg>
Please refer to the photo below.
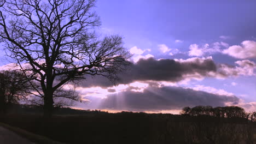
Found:
<svg viewBox="0 0 256 144"><path fill-rule="evenodd" d="M229 45L224 42L216 42L211 45L209 44L203 44L201 46L197 44L191 44L189 46L189 56L205 56L205 55L211 55L217 52L221 52L222 47L228 47Z"/></svg>

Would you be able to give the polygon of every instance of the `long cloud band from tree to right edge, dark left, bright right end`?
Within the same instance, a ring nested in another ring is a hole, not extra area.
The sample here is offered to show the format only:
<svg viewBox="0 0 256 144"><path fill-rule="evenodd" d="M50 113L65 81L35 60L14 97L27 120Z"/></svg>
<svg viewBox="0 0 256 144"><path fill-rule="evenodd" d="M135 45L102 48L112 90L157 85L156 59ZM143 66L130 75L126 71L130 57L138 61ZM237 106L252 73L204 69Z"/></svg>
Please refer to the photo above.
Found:
<svg viewBox="0 0 256 144"><path fill-rule="evenodd" d="M240 75L253 76L256 64L249 60L237 61L236 65L216 64L212 57L189 58L189 59L159 59L153 57L139 59L130 67L119 74L117 84L128 84L135 81L167 81L181 82L190 79L204 79L215 77L225 79L226 77L237 77ZM102 76L88 76L82 82L83 87L112 87L108 79Z"/></svg>

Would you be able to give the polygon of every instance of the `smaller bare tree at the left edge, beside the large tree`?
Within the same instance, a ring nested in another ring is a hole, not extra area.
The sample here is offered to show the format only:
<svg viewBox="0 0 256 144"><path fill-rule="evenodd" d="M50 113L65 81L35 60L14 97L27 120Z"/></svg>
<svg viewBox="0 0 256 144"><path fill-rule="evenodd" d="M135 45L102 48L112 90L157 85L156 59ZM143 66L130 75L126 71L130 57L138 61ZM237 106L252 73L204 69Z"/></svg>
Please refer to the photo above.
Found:
<svg viewBox="0 0 256 144"><path fill-rule="evenodd" d="M0 73L0 109L5 113L10 104L25 100L29 95L30 85L20 71L1 71Z"/></svg>

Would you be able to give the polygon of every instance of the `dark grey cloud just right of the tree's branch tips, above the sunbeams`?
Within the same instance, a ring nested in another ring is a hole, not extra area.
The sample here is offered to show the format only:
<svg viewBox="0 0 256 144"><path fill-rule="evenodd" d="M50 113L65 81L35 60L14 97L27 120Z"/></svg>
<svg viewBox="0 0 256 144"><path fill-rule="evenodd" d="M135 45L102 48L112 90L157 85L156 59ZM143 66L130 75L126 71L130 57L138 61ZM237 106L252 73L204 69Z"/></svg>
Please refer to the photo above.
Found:
<svg viewBox="0 0 256 144"><path fill-rule="evenodd" d="M206 75L209 71L216 71L216 65L212 59L200 58L194 61L179 62L173 59L154 58L140 59L132 66L130 79L128 80L153 80L177 82L185 78L185 75L199 74ZM128 77L127 77L128 78ZM123 81L125 83L125 80Z"/></svg>

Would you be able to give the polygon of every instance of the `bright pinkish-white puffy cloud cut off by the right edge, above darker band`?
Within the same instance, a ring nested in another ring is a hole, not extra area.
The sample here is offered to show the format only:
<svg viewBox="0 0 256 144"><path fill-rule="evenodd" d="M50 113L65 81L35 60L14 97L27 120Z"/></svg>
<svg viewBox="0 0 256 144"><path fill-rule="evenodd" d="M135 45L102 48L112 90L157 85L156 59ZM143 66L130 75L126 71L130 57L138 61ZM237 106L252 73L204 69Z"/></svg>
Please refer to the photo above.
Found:
<svg viewBox="0 0 256 144"><path fill-rule="evenodd" d="M223 53L239 59L256 58L256 41L245 40L241 43L241 46L230 46L223 50Z"/></svg>

